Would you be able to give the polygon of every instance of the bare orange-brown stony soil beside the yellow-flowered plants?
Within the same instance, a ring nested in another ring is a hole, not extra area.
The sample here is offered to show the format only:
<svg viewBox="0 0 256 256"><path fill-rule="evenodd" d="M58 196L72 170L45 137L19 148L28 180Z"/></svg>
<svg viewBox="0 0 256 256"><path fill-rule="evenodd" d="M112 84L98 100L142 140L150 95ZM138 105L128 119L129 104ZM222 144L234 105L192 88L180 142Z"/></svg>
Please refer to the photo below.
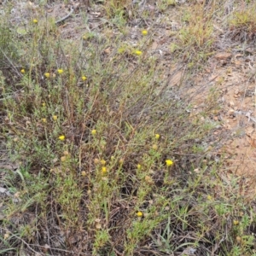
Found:
<svg viewBox="0 0 256 256"><path fill-rule="evenodd" d="M148 12L150 17L138 16L134 19L131 16L127 24L129 27L125 35L127 44L137 45L137 40L141 37L141 28L148 30L153 41L147 50L152 55L160 56L159 67L165 69L166 77L170 77L167 86L171 88L183 83L186 67L183 63L176 63L178 61L170 59L170 45L175 41L173 34L175 35L175 32L183 26L180 19L181 12L191 4L183 1L178 4L178 7L170 5L164 11L160 11L161 3L142 2L139 13L143 15ZM46 19L57 21L67 16L72 9L74 9L73 14L60 25L61 38L76 41L88 32L101 34L102 37L108 33L122 34L114 25L107 29L104 26L108 24L108 17L104 16L104 5L89 4L86 1L48 3L44 7L43 14L38 3L17 1L11 10L11 22L15 26L23 27L33 17L44 17L43 19L46 17ZM84 13L80 13L81 10ZM231 10L229 11L231 13ZM126 3L124 15L131 14L132 5ZM88 23L84 24L84 20ZM229 134L229 138L226 138L227 141L221 149L222 152L229 154L224 170L239 176L251 176L255 172L254 148L256 147L254 142L256 49L253 48L253 42L245 44L244 41L238 40L239 37L232 40L230 34L224 32L221 26L222 24L213 25L215 43L212 56L204 64L205 67L201 72L189 79L189 84L183 84L185 88L181 88L179 93L182 95L183 91L188 90L189 87L195 104L191 113L193 116L194 113L207 109L207 95L212 89L216 90L218 97L215 100L220 104L221 109L218 113L212 113L212 116L206 118L221 122L221 129L216 132L216 136ZM112 50L113 48L109 45L105 52L111 55Z"/></svg>

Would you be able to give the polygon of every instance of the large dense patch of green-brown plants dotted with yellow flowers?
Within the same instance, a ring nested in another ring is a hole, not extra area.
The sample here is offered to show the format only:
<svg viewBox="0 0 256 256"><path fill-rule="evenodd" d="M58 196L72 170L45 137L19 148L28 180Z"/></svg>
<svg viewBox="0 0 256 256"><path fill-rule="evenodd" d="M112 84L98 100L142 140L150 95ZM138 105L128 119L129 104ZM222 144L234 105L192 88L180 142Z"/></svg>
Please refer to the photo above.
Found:
<svg viewBox="0 0 256 256"><path fill-rule="evenodd" d="M211 50L212 21L193 11L177 39L197 65ZM26 29L1 41L1 136L18 168L3 169L0 252L252 255L253 205L207 157L216 124L192 119L178 89L157 94L164 74L149 35L70 40L44 19Z"/></svg>

